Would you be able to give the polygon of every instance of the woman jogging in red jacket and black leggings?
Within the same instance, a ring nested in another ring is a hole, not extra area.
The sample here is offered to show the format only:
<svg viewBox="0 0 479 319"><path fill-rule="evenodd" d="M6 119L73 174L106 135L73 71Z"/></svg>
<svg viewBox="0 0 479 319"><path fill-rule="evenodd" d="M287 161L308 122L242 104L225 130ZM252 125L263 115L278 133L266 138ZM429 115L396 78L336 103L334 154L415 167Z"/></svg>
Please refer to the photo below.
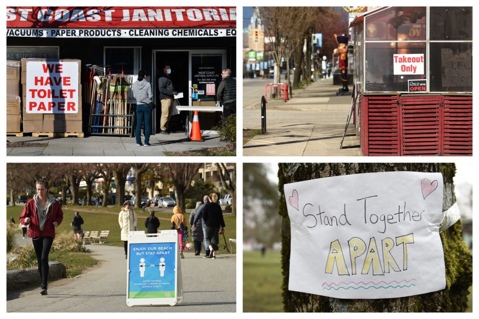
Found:
<svg viewBox="0 0 479 319"><path fill-rule="evenodd" d="M48 194L48 180L36 181L36 194L27 201L20 215L20 223L29 225L28 237L32 239L41 278L40 295L48 295L48 255L55 238L55 227L63 220L63 211L55 197Z"/></svg>

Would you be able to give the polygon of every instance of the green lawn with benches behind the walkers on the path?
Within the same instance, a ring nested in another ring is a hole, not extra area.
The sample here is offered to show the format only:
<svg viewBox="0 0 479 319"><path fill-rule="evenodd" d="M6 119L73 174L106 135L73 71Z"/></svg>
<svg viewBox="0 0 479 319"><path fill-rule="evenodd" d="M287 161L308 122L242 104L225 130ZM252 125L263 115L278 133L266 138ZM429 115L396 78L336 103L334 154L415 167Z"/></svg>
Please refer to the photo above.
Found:
<svg viewBox="0 0 479 319"><path fill-rule="evenodd" d="M123 241L121 241L120 239L120 225L118 225L118 214L120 213L120 209L121 209L120 207L96 208L95 206L89 206L85 208L84 206L76 206L76 207L72 206L69 208L71 209L63 209L63 221L60 224L60 226L58 226L58 229L56 230L57 232L69 231L72 229L70 227L70 223L75 214L75 210L88 209L89 210L88 212L80 211L80 215L85 221L85 223L82 226L83 230L85 231L110 230L110 235L105 245L123 247ZM13 217L15 220L15 223L18 225L19 217L22 210L23 210L23 206L7 206L6 208L7 221L10 220L10 217ZM138 213L138 230L144 230L146 232L145 218L149 216L149 213L138 208L135 209L135 212ZM187 209L187 214L186 214L187 218L190 217L190 212L191 212L191 209ZM172 212L167 212L167 213L155 212L155 215L160 219L159 229L161 230L170 229L170 226L171 226L170 219L172 216ZM225 224L227 226L225 236L226 236L226 241L228 243L228 248L229 248L230 247L229 239L237 237L236 236L236 217L231 215L226 215ZM191 237L188 238L188 241L191 241ZM225 246L225 242L222 235L220 235L219 246L220 246L220 252L228 253L226 249L223 250L223 247ZM236 253L235 245L233 245L233 253Z"/></svg>

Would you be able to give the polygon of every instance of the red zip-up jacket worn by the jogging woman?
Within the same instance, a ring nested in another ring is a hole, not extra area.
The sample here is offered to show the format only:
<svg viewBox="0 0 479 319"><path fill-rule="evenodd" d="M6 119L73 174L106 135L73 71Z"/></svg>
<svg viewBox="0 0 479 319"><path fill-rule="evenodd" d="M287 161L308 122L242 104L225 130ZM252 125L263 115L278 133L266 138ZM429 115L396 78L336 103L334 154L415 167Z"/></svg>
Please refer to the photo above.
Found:
<svg viewBox="0 0 479 319"><path fill-rule="evenodd" d="M32 198L26 202L25 208L20 215L20 223L24 223L25 217L30 218L30 227L28 228L28 237L52 237L55 238L55 226L53 222L56 221L60 225L63 220L63 211L61 210L60 203L55 200L53 204L48 208L48 215L46 217L43 231L40 230L40 223L38 222L38 212L36 211L35 200Z"/></svg>

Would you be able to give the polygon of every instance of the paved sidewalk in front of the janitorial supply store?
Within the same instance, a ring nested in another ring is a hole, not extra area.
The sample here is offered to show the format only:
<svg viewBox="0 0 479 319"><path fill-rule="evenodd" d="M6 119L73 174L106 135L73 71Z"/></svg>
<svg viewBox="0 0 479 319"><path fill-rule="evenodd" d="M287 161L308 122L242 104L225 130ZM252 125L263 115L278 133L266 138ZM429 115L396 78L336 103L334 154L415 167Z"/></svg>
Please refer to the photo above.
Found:
<svg viewBox="0 0 479 319"><path fill-rule="evenodd" d="M7 136L10 142L40 144L34 147L7 148L7 156L165 156L165 152L191 152L226 146L218 134L202 134L205 142L189 142L184 132L150 136L151 147L136 146L135 138L114 136L89 136L84 138L50 138ZM144 137L142 137L142 141Z"/></svg>

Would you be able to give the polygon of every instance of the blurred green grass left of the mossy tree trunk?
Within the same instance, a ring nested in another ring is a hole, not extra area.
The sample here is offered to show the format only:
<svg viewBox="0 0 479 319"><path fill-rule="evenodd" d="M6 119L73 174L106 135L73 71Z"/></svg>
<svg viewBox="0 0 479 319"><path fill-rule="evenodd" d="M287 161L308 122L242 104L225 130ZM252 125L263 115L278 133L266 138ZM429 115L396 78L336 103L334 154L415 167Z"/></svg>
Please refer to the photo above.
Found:
<svg viewBox="0 0 479 319"><path fill-rule="evenodd" d="M243 252L243 312L283 312L281 254Z"/></svg>

